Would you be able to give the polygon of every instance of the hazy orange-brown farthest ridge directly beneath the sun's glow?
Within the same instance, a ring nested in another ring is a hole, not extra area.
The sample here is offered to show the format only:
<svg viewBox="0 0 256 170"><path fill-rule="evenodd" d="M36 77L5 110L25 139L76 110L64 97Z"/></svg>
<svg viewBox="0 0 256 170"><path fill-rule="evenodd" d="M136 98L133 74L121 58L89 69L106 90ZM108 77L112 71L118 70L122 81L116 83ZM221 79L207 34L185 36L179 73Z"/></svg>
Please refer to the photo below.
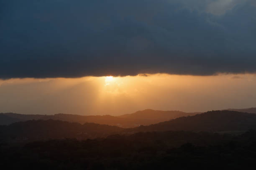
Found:
<svg viewBox="0 0 256 170"><path fill-rule="evenodd" d="M17 113L0 113L4 115L6 120L1 121L0 125L9 125L13 122L27 121L27 120L62 120L68 122L78 122L84 124L86 122L93 122L105 125L114 125L122 128L134 128L139 125L151 125L166 120L171 120L177 117L195 115L197 113L186 113L180 111L160 111L160 110L142 110L132 114L121 116L111 115L71 115L71 114L55 114L55 115L22 115Z"/></svg>

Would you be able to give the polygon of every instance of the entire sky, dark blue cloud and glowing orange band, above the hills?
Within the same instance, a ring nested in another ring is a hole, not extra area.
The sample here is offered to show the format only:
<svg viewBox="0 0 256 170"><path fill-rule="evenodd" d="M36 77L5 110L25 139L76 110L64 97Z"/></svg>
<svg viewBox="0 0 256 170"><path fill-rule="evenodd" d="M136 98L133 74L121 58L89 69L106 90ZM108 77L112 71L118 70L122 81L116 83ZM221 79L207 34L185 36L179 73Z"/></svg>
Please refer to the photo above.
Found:
<svg viewBox="0 0 256 170"><path fill-rule="evenodd" d="M0 0L0 37L0 112L256 107L255 0Z"/></svg>

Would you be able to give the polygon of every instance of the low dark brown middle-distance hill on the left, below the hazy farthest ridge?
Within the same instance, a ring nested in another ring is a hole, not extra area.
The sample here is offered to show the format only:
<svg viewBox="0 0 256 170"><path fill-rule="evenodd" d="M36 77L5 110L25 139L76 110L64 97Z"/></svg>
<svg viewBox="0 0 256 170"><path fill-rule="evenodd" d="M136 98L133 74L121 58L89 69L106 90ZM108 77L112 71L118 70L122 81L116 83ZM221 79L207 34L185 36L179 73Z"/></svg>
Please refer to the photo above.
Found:
<svg viewBox="0 0 256 170"><path fill-rule="evenodd" d="M103 138L123 128L95 123L71 123L61 120L28 120L0 126L0 141L23 142L61 138Z"/></svg>

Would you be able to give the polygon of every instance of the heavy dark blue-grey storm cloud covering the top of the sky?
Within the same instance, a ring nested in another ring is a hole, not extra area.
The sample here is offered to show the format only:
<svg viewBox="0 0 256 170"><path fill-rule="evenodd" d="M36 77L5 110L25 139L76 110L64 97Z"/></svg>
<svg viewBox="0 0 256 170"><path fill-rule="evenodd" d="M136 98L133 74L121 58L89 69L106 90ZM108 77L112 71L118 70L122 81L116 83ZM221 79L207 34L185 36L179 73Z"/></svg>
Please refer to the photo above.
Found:
<svg viewBox="0 0 256 170"><path fill-rule="evenodd" d="M0 78L256 72L253 2L0 0Z"/></svg>

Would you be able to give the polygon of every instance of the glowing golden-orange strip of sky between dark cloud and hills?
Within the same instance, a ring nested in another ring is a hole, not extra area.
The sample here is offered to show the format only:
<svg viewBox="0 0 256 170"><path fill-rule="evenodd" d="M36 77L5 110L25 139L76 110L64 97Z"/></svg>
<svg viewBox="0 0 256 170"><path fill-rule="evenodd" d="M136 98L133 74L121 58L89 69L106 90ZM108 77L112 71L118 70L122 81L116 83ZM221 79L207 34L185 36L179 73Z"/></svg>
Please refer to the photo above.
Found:
<svg viewBox="0 0 256 170"><path fill-rule="evenodd" d="M0 112L121 115L256 106L256 75L148 75L0 81Z"/></svg>

